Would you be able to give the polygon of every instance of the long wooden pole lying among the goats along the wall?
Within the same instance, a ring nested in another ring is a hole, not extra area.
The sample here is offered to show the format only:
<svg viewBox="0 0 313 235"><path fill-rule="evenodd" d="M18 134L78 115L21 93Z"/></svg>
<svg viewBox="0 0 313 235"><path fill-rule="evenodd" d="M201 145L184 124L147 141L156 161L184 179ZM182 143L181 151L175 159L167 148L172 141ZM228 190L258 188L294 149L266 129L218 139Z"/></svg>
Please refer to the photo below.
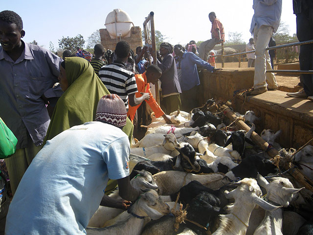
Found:
<svg viewBox="0 0 313 235"><path fill-rule="evenodd" d="M227 105L222 105L222 110L224 114L226 114L226 116L230 118L231 121L234 121L237 118L236 115L228 108ZM243 129L245 131L250 130L250 127L242 120L238 120L236 124L239 126L240 129ZM253 132L251 135L251 139L256 144L258 144L262 150L266 151L268 149L268 142L264 141L257 133ZM279 155L276 149L270 149L268 150L267 153L271 158L274 158L275 156ZM293 167L294 165L291 164L291 168ZM285 168L285 170L288 169L289 169L288 167ZM301 185L303 185L305 188L313 192L313 182L305 175L303 175L301 171L299 171L297 168L293 168L291 171L289 171L289 173Z"/></svg>

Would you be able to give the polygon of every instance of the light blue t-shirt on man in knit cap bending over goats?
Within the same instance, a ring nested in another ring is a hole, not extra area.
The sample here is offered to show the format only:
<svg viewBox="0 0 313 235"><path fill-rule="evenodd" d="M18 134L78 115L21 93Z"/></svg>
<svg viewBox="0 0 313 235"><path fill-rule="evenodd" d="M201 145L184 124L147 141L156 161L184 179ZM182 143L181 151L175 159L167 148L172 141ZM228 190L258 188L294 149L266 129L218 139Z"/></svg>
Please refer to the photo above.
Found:
<svg viewBox="0 0 313 235"><path fill-rule="evenodd" d="M98 121L74 126L47 141L13 197L6 234L86 234L108 179L129 175L129 154L127 135Z"/></svg>

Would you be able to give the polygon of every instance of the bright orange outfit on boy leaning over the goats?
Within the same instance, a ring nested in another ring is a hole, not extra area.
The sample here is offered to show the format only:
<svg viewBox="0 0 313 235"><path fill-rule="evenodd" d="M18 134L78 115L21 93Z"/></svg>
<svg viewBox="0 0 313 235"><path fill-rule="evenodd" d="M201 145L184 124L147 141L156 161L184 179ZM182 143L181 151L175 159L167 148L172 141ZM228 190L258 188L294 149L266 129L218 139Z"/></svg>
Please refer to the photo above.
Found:
<svg viewBox="0 0 313 235"><path fill-rule="evenodd" d="M156 102L155 98L153 97L153 95L150 91L150 83L147 83L146 72L144 72L142 74L135 74L135 78L136 78L136 84L137 84L137 89L138 89L138 92L135 93L135 96L140 97L141 92L149 93L150 99L145 100L145 101L151 107L153 112L155 112L156 118L163 116L164 112L162 111L161 107L158 105L158 103ZM131 119L131 121L134 120L136 110L139 108L139 106L140 106L140 104L138 104L137 106L134 106L134 107L129 105L127 116Z"/></svg>

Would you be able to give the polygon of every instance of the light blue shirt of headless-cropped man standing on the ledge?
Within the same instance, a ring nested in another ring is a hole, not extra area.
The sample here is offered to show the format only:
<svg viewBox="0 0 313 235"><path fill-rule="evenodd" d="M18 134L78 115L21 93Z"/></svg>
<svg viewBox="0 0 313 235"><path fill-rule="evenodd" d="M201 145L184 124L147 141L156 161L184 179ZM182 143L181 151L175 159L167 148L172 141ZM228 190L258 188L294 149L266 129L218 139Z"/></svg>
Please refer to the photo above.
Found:
<svg viewBox="0 0 313 235"><path fill-rule="evenodd" d="M272 26L275 33L282 14L282 0L253 0L253 9L250 33L253 34L254 27L260 28L262 25Z"/></svg>

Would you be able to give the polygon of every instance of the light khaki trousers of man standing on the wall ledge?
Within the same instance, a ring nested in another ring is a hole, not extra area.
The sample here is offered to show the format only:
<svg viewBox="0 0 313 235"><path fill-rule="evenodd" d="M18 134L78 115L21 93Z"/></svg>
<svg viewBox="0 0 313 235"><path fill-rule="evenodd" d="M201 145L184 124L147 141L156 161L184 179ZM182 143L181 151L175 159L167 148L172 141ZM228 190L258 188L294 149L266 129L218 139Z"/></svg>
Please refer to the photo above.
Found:
<svg viewBox="0 0 313 235"><path fill-rule="evenodd" d="M278 85L274 73L266 72L271 70L270 57L266 47L273 34L273 27L262 25L260 28L254 28L253 37L255 44L255 69L254 69L254 89L268 87L277 89Z"/></svg>

